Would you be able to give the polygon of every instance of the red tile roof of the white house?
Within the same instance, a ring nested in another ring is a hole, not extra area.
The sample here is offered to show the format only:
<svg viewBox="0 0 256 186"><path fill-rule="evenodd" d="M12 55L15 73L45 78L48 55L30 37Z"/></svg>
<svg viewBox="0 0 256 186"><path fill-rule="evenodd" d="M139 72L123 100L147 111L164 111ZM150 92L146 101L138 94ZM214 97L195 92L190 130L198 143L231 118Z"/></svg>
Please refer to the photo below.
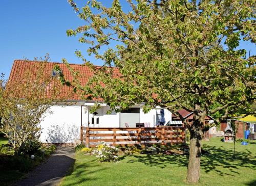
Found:
<svg viewBox="0 0 256 186"><path fill-rule="evenodd" d="M25 71L29 70L31 73L36 73L36 65L39 62L35 61L25 61L25 60L14 60L12 70L9 77L9 82L13 81L19 81L20 78L22 78ZM60 69L62 70L63 75L65 76L67 81L72 82L73 75L69 71L68 67L63 63L55 63L55 62L47 62L45 73L48 73L49 75L52 74L52 70L55 65L58 65ZM92 70L86 66L86 65L79 65L79 64L70 64L70 67L74 69L74 71L78 71L79 74L81 74L80 82L81 85L85 85L88 82L88 79L93 76ZM114 71L116 73L119 72L118 68L114 68ZM63 86L63 89L61 90L61 94L63 97L66 97L67 100L81 100L81 97L79 94L72 94L72 96L68 95L68 92L72 92L73 88L68 86ZM102 101L102 99L100 99Z"/></svg>

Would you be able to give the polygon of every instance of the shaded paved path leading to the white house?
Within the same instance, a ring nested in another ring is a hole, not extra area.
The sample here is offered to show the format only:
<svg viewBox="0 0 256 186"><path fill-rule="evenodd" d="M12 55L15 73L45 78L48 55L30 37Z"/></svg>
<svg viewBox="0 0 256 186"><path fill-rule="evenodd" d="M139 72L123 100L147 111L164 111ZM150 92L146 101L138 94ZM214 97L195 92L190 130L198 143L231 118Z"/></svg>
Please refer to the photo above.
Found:
<svg viewBox="0 0 256 186"><path fill-rule="evenodd" d="M61 178L66 175L74 163L74 147L57 147L56 151L33 171L27 178L18 181L16 186L46 186L58 185Z"/></svg>

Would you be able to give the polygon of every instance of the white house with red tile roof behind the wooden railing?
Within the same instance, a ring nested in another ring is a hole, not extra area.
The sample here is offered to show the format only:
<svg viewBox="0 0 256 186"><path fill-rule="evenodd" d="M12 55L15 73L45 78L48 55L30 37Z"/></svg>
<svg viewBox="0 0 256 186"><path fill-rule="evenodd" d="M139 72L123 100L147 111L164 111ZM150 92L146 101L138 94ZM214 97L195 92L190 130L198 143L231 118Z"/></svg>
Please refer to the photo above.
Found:
<svg viewBox="0 0 256 186"><path fill-rule="evenodd" d="M36 69L33 69L33 63L38 62L15 60L9 81L15 81L15 77L20 77L25 70L36 72ZM54 65L59 65L65 77L72 79L67 67L61 63L47 63L47 73L53 72ZM92 72L87 66L77 64L71 64L71 66L74 70L84 74L84 79L81 81L83 83L92 76ZM69 89L69 87L64 89ZM160 109L154 109L145 114L142 111L142 105L136 105L121 113L106 114L109 107L102 102L100 109L92 114L90 108L94 105L94 101L80 100L78 96L72 96L67 99L66 103L52 106L51 114L45 114L44 120L40 123L42 128L40 140L42 142L74 143L80 139L80 126L125 127L124 123L127 123L130 127L136 127L136 123L145 123L146 126L153 127L159 123L161 118ZM166 123L172 120L172 113L164 110L164 114Z"/></svg>

